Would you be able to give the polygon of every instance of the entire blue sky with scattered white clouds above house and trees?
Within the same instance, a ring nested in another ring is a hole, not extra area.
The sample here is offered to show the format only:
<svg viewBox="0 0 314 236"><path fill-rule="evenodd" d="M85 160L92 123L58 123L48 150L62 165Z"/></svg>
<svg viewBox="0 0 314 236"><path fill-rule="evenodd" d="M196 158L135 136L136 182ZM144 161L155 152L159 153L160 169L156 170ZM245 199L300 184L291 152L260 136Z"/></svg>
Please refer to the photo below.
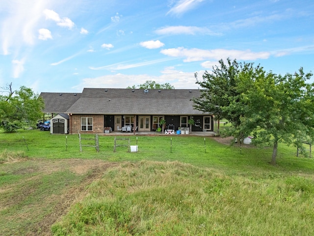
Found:
<svg viewBox="0 0 314 236"><path fill-rule="evenodd" d="M228 57L314 72L314 1L0 0L0 87L197 89Z"/></svg>

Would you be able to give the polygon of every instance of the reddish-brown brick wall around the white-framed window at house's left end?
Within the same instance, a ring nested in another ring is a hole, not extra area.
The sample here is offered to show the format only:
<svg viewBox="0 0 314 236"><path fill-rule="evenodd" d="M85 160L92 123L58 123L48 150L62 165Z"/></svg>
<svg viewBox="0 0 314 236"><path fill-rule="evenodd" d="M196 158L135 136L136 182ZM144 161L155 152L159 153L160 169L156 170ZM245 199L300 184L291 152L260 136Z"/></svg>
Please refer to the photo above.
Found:
<svg viewBox="0 0 314 236"><path fill-rule="evenodd" d="M81 117L93 118L93 131L81 130ZM104 133L104 115L71 115L70 116L70 134L100 134Z"/></svg>

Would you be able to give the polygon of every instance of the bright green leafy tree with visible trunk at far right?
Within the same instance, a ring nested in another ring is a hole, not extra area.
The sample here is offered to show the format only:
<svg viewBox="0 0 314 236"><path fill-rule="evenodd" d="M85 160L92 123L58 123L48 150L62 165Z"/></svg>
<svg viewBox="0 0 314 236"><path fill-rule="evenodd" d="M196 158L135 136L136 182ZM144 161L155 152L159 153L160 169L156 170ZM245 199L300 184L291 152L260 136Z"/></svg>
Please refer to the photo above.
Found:
<svg viewBox="0 0 314 236"><path fill-rule="evenodd" d="M234 133L252 133L256 143L273 146L271 164L276 164L278 142L301 149L314 139L314 84L312 73L300 68L285 76L266 73L239 74L240 99L230 106L241 107L243 117Z"/></svg>

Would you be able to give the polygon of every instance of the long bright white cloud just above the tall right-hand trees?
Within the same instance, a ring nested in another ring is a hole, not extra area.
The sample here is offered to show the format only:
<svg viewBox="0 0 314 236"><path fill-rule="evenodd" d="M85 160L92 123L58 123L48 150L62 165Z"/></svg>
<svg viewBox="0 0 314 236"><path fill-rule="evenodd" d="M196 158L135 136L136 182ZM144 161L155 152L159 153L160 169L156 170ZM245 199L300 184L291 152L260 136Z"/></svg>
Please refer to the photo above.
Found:
<svg viewBox="0 0 314 236"><path fill-rule="evenodd" d="M251 52L250 50L226 50L226 49L213 49L213 50L202 50L202 49L185 49L183 47L170 48L160 51L162 54L170 57L180 57L184 62L200 61L208 59L238 59L238 60L256 60L256 59L267 59L270 56L269 52Z"/></svg>

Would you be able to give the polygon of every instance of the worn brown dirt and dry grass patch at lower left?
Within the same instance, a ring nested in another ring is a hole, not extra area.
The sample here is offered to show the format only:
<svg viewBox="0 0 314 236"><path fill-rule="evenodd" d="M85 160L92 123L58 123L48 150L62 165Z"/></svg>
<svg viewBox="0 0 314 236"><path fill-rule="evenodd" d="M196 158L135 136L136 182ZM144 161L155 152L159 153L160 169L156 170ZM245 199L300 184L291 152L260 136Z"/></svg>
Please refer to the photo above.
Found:
<svg viewBox="0 0 314 236"><path fill-rule="evenodd" d="M21 189L21 183L17 182L3 186L3 188L1 187L1 193L6 194L7 197L0 199L0 209L19 206L28 196L34 196L34 192L38 189L37 185L42 183L42 181L44 181L43 178L47 176L57 175L59 172L66 172L73 173L78 177L78 179L80 179L75 185L69 184L63 189L59 188L58 194L44 194L40 202L31 202L28 206L25 206L25 209L27 210L23 211L23 213L17 212L16 214L10 216L11 218L13 217L11 220L17 220L18 222L23 219L30 219L33 217L36 218L36 215L43 215L42 220L37 222L34 221L33 224L30 224L23 229L24 233L22 233L22 235L27 236L51 235L52 225L64 216L73 204L79 202L86 196L88 185L93 181L99 180L108 168L117 165L116 163L102 160L85 159L30 159L25 162L25 165L20 164L19 167L16 167L15 164L16 163L2 164L2 166L0 166L0 171L2 170L4 175L22 175L25 177L23 180L25 186L22 185ZM10 167L13 167L14 170L10 170ZM32 184L26 185L28 180L34 179L38 179L38 182L36 180L32 181ZM54 187L56 187L56 185L54 185ZM18 194L9 197L11 196L10 192ZM46 208L50 208L52 210L46 212ZM13 229L5 227L8 226L0 226L0 235L2 235L2 233L3 235L14 235L17 233ZM10 230L12 230L11 233Z"/></svg>

